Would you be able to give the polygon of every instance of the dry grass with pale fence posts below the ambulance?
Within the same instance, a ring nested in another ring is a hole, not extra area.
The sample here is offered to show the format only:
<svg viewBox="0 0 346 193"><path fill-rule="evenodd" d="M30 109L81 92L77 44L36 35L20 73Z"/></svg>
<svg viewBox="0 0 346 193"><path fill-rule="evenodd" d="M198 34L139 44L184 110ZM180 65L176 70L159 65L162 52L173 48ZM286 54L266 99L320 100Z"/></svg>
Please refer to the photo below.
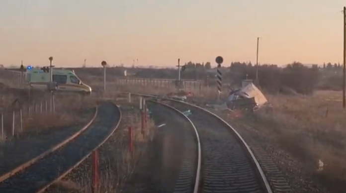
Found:
<svg viewBox="0 0 346 193"><path fill-rule="evenodd" d="M76 95L56 94L55 112L53 113L50 112L51 105L48 96L42 94L40 96L32 95L29 100L25 96L21 96L21 92L1 95L0 109L2 110L0 112L3 115L5 139L10 139L12 136L13 111L14 132L18 136L84 123L90 117L86 117L83 109L96 104L88 98L76 98ZM13 106L12 103L15 99L18 99L19 102ZM20 113L22 119L20 118ZM1 132L0 139L2 139Z"/></svg>

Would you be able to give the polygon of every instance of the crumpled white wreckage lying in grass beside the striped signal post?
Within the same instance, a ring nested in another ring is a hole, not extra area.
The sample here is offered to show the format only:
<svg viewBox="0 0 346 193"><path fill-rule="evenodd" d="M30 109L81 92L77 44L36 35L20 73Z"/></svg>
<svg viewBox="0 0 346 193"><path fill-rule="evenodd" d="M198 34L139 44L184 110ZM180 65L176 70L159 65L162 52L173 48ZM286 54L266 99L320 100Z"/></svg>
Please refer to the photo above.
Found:
<svg viewBox="0 0 346 193"><path fill-rule="evenodd" d="M254 98L258 106L261 106L267 102L267 99L264 97L262 92L260 92L253 83L248 84L240 91L230 94L230 96L228 97L228 101L236 100L238 96L245 98Z"/></svg>

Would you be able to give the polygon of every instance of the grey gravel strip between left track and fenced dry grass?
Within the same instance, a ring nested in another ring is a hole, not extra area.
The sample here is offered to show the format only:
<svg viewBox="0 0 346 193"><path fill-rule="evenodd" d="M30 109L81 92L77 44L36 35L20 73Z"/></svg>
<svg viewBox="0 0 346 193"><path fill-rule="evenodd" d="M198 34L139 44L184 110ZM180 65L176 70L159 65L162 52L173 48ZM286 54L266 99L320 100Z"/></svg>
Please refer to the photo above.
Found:
<svg viewBox="0 0 346 193"><path fill-rule="evenodd" d="M94 110L87 109L81 115L83 124L28 134L0 144L0 175L44 153L79 131L92 118Z"/></svg>

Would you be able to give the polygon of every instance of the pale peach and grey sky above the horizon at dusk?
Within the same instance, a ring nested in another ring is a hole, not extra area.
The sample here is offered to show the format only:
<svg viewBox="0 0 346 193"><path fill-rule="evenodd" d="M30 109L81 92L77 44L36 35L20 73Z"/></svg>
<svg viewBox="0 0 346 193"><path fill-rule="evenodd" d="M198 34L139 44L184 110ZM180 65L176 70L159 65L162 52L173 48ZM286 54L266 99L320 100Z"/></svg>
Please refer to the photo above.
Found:
<svg viewBox="0 0 346 193"><path fill-rule="evenodd" d="M0 0L0 64L343 62L345 0ZM137 63L137 62L136 62Z"/></svg>

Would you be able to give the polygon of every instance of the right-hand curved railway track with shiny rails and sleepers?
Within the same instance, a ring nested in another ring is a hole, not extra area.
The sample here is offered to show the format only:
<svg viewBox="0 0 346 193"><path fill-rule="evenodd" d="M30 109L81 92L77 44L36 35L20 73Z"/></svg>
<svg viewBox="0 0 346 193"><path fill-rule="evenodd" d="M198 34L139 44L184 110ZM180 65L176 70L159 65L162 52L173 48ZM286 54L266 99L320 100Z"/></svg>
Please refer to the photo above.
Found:
<svg viewBox="0 0 346 193"><path fill-rule="evenodd" d="M184 101L150 95L131 95L170 101L172 104L165 105L180 113L192 109L192 115L186 118L195 128L200 144L199 155L202 154L198 160L200 167L197 167L195 171L193 193L272 193L268 180L251 148L242 136L222 118L202 107ZM184 168L181 169L183 170ZM187 185L187 181L188 178L182 175L177 184ZM184 189L178 190L176 193L184 193L182 191Z"/></svg>

